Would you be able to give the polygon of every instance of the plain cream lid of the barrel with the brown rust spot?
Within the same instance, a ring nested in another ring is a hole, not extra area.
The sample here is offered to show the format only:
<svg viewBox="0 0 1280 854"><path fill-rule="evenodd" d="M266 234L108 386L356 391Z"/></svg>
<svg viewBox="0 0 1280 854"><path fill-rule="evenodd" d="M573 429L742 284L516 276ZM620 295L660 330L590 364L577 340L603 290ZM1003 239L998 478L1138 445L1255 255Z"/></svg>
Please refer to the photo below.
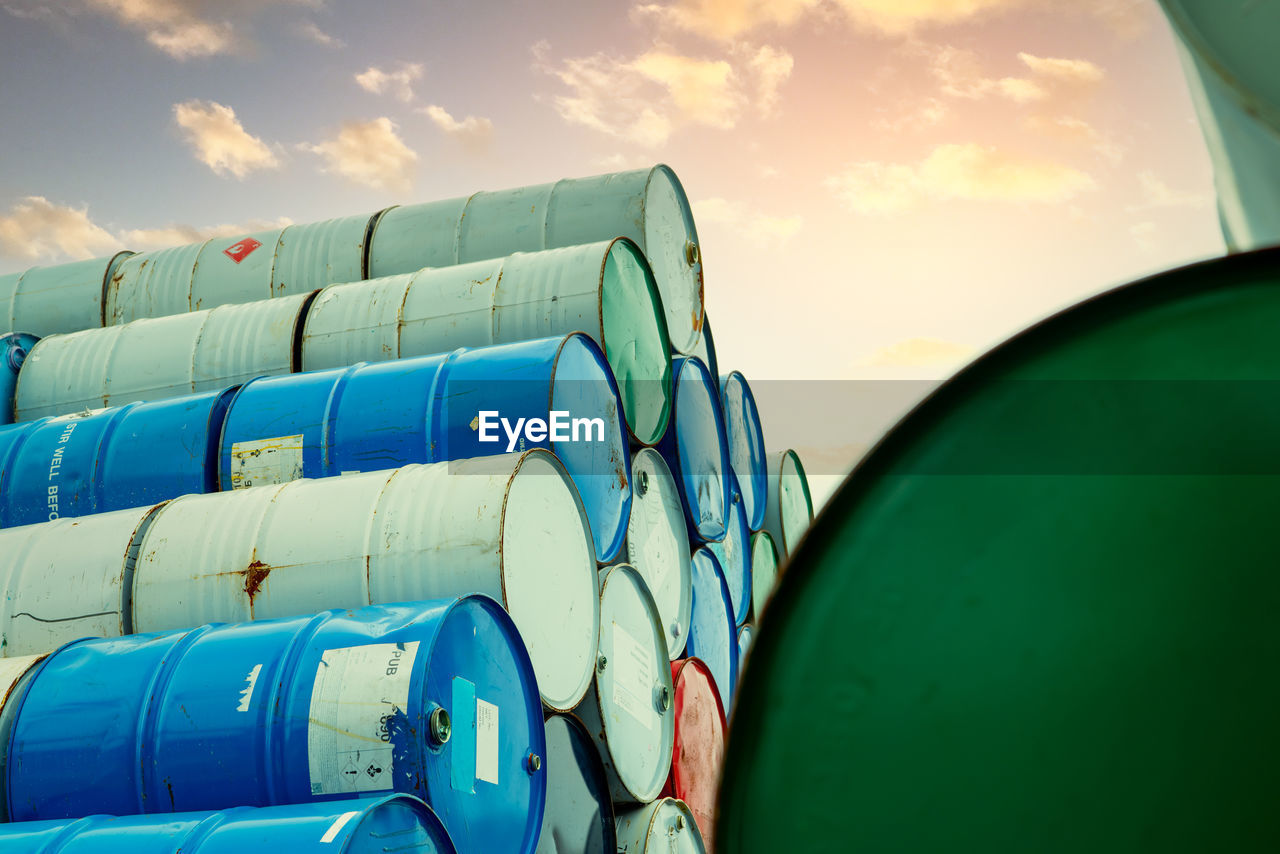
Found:
<svg viewBox="0 0 1280 854"><path fill-rule="evenodd" d="M582 503L548 451L516 463L502 510L502 586L538 673L543 702L564 712L591 684L599 581Z"/></svg>

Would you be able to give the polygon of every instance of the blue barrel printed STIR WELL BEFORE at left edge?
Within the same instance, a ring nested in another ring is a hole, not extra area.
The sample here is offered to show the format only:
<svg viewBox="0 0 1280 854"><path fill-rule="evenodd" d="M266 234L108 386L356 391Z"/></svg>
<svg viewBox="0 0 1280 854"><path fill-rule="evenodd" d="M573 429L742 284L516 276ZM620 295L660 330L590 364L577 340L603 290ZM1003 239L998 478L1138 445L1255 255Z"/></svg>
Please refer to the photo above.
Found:
<svg viewBox="0 0 1280 854"><path fill-rule="evenodd" d="M0 528L218 490L236 388L0 428Z"/></svg>

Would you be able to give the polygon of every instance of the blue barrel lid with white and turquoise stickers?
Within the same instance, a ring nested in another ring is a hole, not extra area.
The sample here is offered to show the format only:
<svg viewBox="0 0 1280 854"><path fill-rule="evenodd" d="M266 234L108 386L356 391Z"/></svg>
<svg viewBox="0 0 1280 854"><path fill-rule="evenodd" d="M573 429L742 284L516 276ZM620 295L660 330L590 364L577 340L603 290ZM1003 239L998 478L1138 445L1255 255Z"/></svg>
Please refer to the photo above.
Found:
<svg viewBox="0 0 1280 854"><path fill-rule="evenodd" d="M488 597L462 597L440 620L422 668L425 799L460 850L532 851L547 748L538 682L513 620ZM443 729L435 709L447 713Z"/></svg>

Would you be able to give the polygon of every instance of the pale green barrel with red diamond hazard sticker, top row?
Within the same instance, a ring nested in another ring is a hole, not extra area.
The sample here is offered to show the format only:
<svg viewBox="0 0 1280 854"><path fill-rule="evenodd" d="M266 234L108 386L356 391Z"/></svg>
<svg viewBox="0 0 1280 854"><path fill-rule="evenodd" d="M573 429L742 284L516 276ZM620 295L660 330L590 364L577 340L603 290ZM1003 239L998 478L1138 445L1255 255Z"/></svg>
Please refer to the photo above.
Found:
<svg viewBox="0 0 1280 854"><path fill-rule="evenodd" d="M370 214L142 252L106 289L105 325L310 293L365 278Z"/></svg>

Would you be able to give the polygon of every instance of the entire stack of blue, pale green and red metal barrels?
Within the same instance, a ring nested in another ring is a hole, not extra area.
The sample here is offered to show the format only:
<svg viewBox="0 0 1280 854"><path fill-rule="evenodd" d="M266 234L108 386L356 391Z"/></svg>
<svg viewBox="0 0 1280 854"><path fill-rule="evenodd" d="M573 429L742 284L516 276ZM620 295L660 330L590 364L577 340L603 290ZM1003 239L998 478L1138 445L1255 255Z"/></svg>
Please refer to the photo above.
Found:
<svg viewBox="0 0 1280 854"><path fill-rule="evenodd" d="M813 511L668 168L0 277L8 421L4 850L709 848Z"/></svg>

